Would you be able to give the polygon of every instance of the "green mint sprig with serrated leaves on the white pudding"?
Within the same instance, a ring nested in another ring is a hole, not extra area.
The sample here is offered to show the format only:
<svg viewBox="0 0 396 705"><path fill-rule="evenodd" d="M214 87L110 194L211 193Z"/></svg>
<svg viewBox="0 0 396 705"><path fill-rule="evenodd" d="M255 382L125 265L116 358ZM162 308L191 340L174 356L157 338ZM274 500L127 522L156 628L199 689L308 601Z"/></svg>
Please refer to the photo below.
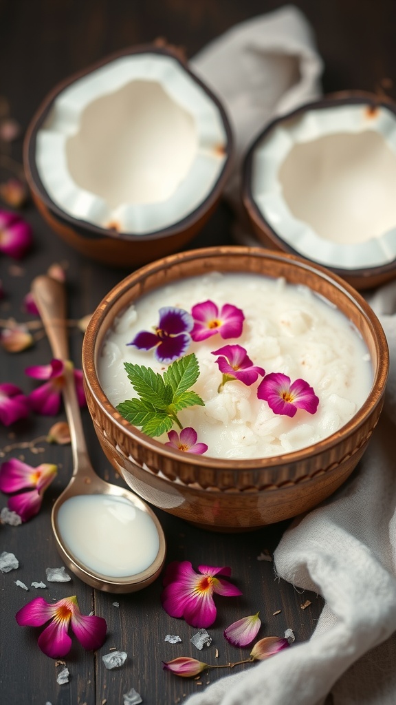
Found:
<svg viewBox="0 0 396 705"><path fill-rule="evenodd" d="M121 402L117 410L147 436L161 436L174 423L182 429L177 412L189 406L204 406L202 398L190 389L199 377L194 353L172 362L163 376L140 364L124 362L124 367L139 398Z"/></svg>

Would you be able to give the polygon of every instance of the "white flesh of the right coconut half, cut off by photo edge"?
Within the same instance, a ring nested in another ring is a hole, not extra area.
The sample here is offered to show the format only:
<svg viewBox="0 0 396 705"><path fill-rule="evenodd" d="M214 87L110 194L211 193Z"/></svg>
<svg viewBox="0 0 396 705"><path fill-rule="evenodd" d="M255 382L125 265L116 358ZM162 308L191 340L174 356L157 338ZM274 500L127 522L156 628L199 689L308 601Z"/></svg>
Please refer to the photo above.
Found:
<svg viewBox="0 0 396 705"><path fill-rule="evenodd" d="M385 107L307 109L257 145L252 197L273 231L326 266L396 257L396 116Z"/></svg>

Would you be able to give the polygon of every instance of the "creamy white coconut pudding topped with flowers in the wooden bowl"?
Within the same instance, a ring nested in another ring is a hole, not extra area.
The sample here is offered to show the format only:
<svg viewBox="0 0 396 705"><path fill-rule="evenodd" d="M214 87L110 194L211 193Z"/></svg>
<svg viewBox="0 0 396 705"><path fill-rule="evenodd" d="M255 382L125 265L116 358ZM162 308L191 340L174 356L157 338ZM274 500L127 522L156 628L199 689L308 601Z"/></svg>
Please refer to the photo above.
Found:
<svg viewBox="0 0 396 705"><path fill-rule="evenodd" d="M150 435L212 458L268 458L321 441L354 416L373 381L344 314L307 287L255 274L187 278L125 309L97 363L104 393L115 407L139 398L125 363L166 378L171 355L196 357L189 391L203 405Z"/></svg>

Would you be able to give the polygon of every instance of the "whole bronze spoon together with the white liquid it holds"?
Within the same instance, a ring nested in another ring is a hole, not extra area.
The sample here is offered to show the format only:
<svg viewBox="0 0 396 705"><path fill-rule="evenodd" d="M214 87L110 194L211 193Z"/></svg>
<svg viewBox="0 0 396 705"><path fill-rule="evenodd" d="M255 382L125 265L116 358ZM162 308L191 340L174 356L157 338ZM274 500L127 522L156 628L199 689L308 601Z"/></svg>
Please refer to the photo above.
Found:
<svg viewBox="0 0 396 705"><path fill-rule="evenodd" d="M54 357L68 361L66 293L49 276L32 293ZM66 364L63 401L70 428L73 474L52 509L56 547L83 582L107 592L134 592L159 576L166 553L162 527L144 501L105 482L94 471L85 443L73 367Z"/></svg>

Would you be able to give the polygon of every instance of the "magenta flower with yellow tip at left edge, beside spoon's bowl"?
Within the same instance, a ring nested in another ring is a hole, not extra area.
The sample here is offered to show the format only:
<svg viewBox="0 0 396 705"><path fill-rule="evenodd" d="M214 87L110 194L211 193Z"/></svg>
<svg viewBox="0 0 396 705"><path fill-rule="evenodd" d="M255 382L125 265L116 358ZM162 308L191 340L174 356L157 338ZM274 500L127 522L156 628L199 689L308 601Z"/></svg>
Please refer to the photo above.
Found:
<svg viewBox="0 0 396 705"><path fill-rule="evenodd" d="M16 494L8 499L8 509L16 512L23 522L39 513L44 491L56 476L56 465L44 462L38 467L27 465L22 460L12 458L0 466L0 490L6 494L22 489L30 491Z"/></svg>

